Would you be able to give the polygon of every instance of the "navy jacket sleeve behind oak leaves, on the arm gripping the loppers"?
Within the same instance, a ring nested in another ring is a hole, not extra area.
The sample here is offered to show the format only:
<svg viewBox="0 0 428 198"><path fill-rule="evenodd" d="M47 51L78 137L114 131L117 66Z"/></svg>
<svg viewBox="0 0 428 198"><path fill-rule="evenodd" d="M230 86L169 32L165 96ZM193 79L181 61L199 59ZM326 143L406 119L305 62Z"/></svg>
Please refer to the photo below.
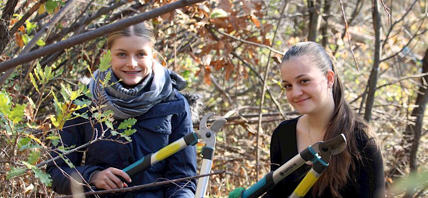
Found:
<svg viewBox="0 0 428 198"><path fill-rule="evenodd" d="M59 146L64 147L78 147L85 142L84 138L84 123L86 120L77 118L70 121L67 121L64 125L63 130L61 130L60 136L61 139L58 143L58 146L53 146L53 149L58 148ZM46 172L52 177L52 186L51 188L58 194L71 195L74 188L82 189L87 192L90 189L78 185L75 181L82 182L83 184L89 183L89 178L96 170L103 170L103 167L100 166L90 166L85 165L81 166L82 157L85 148L72 152L70 154L64 155L65 159L68 159L73 165L74 168L71 168L61 157L55 160L54 162L49 162L46 167ZM57 151L60 152L60 151ZM52 158L58 156L58 153L52 151L50 154ZM85 180L85 181L82 181ZM81 192L81 190L79 190Z"/></svg>

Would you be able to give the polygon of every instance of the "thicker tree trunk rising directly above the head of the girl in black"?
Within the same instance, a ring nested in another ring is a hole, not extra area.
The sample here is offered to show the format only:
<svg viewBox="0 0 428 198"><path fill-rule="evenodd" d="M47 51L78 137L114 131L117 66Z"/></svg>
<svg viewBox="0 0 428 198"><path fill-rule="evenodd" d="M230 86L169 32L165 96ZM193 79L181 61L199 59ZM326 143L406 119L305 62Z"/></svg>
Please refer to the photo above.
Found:
<svg viewBox="0 0 428 198"><path fill-rule="evenodd" d="M309 35L308 41L316 41L321 24L321 0L309 0Z"/></svg>

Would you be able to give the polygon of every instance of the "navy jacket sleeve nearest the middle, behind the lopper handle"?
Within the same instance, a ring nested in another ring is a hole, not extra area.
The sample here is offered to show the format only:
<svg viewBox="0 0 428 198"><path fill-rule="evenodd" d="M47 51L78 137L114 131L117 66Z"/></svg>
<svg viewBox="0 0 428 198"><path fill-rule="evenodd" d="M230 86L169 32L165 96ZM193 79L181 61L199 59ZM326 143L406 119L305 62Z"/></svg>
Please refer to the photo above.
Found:
<svg viewBox="0 0 428 198"><path fill-rule="evenodd" d="M185 100L186 111L175 114L172 117L172 132L169 143L193 132L193 124L189 105ZM187 146L183 150L168 157L165 168L165 177L169 180L192 177L197 174L196 147ZM167 198L194 198L196 192L196 180L183 181L167 186L165 197Z"/></svg>

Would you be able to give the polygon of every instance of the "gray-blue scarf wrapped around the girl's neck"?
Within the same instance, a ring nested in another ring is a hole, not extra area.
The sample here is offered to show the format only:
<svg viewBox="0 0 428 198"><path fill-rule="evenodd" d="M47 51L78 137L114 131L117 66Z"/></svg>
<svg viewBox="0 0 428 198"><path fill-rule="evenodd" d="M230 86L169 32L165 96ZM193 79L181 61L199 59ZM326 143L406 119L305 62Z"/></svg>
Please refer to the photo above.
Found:
<svg viewBox="0 0 428 198"><path fill-rule="evenodd" d="M183 77L159 63L153 64L152 73L149 73L140 84L131 89L123 87L120 83L103 89L99 81L104 80L107 72L111 72L110 83L118 81L111 67L104 72L96 70L94 77L97 80L91 78L89 89L95 101L101 101L101 105L106 105L102 108L103 111L113 111L114 119L143 115L154 105L161 103L170 94L173 94L173 88L182 90L187 86Z"/></svg>

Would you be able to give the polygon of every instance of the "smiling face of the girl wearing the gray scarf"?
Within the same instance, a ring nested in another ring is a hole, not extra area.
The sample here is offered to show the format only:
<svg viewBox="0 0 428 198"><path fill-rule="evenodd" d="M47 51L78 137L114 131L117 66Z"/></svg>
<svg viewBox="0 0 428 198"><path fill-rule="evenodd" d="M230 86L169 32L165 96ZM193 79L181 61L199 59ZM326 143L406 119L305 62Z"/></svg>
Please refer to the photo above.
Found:
<svg viewBox="0 0 428 198"><path fill-rule="evenodd" d="M139 36L123 36L111 45L111 68L126 85L141 82L152 70L152 43Z"/></svg>

